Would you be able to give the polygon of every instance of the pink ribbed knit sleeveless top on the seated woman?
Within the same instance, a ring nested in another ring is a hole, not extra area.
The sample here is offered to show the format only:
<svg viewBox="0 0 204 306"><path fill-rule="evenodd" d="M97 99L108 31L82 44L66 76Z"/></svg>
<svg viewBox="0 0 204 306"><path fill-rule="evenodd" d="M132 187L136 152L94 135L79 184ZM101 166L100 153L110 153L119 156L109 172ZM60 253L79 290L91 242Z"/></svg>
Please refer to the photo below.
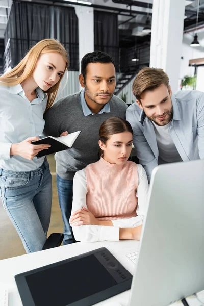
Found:
<svg viewBox="0 0 204 306"><path fill-rule="evenodd" d="M128 219L137 216L137 165L110 164L102 157L85 168L87 181L86 203L100 221Z"/></svg>

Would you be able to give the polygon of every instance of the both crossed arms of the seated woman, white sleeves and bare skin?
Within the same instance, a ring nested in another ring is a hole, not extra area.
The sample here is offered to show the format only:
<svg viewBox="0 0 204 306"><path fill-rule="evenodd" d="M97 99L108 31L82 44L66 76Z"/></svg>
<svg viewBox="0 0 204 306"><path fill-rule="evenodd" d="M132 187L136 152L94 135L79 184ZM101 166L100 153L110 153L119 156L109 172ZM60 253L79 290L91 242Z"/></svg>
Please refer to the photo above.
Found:
<svg viewBox="0 0 204 306"><path fill-rule="evenodd" d="M86 205L86 174L85 169L78 171L73 180L73 203L70 217L70 225L77 241L118 241L120 239L139 240L142 220L146 207L146 194L148 181L146 173L141 165L138 165L138 189L137 217L114 221L98 221Z"/></svg>

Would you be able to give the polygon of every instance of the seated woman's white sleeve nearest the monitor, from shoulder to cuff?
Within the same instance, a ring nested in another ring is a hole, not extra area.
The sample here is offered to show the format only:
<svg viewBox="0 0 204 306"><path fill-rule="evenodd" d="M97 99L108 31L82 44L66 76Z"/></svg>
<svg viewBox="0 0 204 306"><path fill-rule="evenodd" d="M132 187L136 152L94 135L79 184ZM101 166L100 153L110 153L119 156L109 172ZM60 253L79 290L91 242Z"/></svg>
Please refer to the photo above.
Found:
<svg viewBox="0 0 204 306"><path fill-rule="evenodd" d="M137 165L138 171L138 187L136 191L136 196L138 198L138 204L136 213L137 216L130 219L119 219L113 220L113 226L117 227L137 227L143 223L144 215L146 213L146 204L147 204L147 193L149 189L148 180L146 172L141 165Z"/></svg>

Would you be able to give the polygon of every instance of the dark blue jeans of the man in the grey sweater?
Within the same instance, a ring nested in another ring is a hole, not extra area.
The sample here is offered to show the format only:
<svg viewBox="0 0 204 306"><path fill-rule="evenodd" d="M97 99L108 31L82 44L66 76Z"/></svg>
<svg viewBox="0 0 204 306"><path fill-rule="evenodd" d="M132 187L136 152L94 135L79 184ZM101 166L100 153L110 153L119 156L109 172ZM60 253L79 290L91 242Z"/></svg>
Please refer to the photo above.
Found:
<svg viewBox="0 0 204 306"><path fill-rule="evenodd" d="M73 181L62 179L62 177L57 174L58 199L62 211L62 219L64 221L64 245L76 242L73 237L72 227L69 224L73 197L72 188Z"/></svg>

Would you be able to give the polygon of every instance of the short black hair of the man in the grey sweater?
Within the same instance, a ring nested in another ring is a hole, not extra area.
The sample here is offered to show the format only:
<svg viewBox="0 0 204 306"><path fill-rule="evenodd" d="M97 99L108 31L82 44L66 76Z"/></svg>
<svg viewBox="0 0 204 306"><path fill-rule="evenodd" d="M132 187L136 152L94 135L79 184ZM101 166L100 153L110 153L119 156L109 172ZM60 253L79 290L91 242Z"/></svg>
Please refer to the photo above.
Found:
<svg viewBox="0 0 204 306"><path fill-rule="evenodd" d="M103 52L103 51L94 51L94 52L90 52L85 54L85 56L82 58L81 61L81 74L84 77L84 80L86 79L86 67L89 63L101 63L101 64L108 64L108 63L112 63L115 67L115 63L113 58Z"/></svg>

